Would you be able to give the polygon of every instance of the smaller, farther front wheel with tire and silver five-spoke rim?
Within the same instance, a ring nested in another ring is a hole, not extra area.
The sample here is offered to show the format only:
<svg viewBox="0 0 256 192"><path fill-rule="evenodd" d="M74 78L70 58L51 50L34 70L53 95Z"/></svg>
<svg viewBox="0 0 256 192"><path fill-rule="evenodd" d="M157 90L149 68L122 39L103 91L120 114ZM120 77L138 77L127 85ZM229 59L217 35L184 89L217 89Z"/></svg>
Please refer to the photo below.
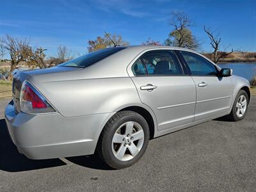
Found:
<svg viewBox="0 0 256 192"><path fill-rule="evenodd" d="M234 122L242 120L247 113L248 109L248 95L244 90L240 90L236 99L234 100L234 104L228 118Z"/></svg>

